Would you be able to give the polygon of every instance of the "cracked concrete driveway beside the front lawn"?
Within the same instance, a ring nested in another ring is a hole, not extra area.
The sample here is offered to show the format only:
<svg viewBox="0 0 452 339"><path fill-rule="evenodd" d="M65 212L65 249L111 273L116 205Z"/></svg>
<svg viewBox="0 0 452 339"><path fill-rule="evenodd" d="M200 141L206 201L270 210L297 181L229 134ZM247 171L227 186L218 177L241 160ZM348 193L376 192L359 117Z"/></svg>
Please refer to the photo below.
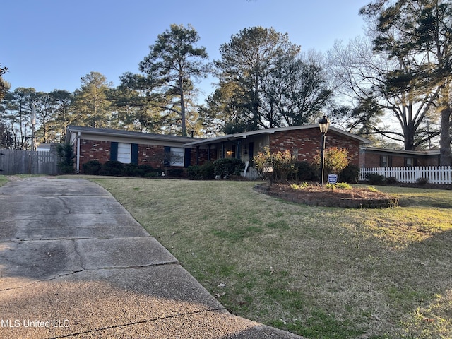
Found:
<svg viewBox="0 0 452 339"><path fill-rule="evenodd" d="M232 316L102 187L0 187L0 338L300 338Z"/></svg>

